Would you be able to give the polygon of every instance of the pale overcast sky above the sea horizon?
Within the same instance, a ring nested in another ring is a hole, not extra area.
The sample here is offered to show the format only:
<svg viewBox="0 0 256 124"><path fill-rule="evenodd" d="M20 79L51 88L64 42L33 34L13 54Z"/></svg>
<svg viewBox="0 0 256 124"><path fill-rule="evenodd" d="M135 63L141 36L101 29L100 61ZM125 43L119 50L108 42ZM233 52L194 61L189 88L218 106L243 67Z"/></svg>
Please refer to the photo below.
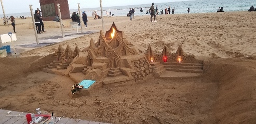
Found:
<svg viewBox="0 0 256 124"><path fill-rule="evenodd" d="M40 8L39 0L2 0L4 4L5 13L22 13L30 12L29 5L33 5L33 10ZM140 5L151 3L167 3L187 0L102 0L103 7L111 6L126 6L126 5ZM100 0L69 0L69 8L77 9L77 3L80 3L80 8L96 8L100 7ZM61 4L61 3L60 3ZM0 7L0 14L3 14L2 7Z"/></svg>

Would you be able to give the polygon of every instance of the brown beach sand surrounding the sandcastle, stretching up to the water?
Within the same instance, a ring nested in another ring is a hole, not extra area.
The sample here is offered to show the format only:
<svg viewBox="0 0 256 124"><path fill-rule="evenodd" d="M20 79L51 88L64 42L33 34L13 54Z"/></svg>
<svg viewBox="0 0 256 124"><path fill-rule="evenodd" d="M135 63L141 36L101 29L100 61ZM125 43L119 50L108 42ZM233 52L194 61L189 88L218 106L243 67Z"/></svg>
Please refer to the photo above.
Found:
<svg viewBox="0 0 256 124"><path fill-rule="evenodd" d="M111 17L129 41L145 52L167 45L176 52L204 60L204 75L191 79L159 80L151 77L136 84L104 86L86 97L70 98L74 84L68 77L37 69L33 61L53 53L61 44L83 50L99 33L26 51L21 58L0 58L0 107L35 112L35 108L56 116L110 123L256 123L256 22L255 12L174 14ZM26 29L26 23L17 24ZM2 28L10 28L0 26ZM100 30L101 20L90 20L88 30ZM1 32L0 30L0 32ZM31 31L32 30L32 31ZM1 32L2 33L2 32ZM23 32L17 33L22 35ZM23 33L24 34L24 33ZM36 55L36 56L35 56Z"/></svg>

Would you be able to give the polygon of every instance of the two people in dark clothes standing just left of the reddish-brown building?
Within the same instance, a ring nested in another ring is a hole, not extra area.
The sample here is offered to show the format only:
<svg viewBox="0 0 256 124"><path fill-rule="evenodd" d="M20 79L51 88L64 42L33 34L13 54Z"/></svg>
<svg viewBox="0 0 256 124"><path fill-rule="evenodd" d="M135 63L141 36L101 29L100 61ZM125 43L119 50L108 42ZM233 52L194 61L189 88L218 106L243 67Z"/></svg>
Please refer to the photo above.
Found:
<svg viewBox="0 0 256 124"><path fill-rule="evenodd" d="M43 17L41 15L41 11L38 8L37 10L35 10L34 19L35 19L36 33L37 34L45 33Z"/></svg>

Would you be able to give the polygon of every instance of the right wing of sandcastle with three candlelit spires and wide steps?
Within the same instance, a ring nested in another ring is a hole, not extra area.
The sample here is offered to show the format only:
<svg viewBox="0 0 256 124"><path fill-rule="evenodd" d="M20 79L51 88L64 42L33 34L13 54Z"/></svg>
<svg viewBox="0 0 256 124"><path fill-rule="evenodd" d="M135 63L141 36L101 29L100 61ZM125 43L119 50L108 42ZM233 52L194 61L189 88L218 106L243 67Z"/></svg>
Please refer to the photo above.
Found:
<svg viewBox="0 0 256 124"><path fill-rule="evenodd" d="M150 61L158 61L150 64L161 79L189 78L203 74L203 61L197 60L194 55L185 54L181 46L176 53L170 53L167 46L164 46L163 52L154 53L149 45L145 55Z"/></svg>

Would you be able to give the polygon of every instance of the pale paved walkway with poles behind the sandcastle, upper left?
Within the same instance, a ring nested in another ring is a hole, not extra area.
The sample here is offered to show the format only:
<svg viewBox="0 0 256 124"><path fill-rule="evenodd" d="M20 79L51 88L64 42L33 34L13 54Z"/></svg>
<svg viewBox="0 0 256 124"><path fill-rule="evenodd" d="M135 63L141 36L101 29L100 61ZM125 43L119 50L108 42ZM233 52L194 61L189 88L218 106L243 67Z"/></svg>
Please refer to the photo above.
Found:
<svg viewBox="0 0 256 124"><path fill-rule="evenodd" d="M47 33L38 35L39 44L36 43L36 38L35 38L34 34L25 34L22 36L18 35L17 41L14 42L14 45L15 45L16 53L18 55L19 53L22 53L24 51L41 48L46 45L51 45L51 44L63 42L66 40L75 39L75 38L82 37L82 36L89 35L89 34L96 33L96 32L99 32L99 31L98 30L86 30L83 33L80 31L77 33L75 29L65 30L64 38L63 38L62 34L59 30L58 31L52 30L51 32L47 32ZM3 43L3 45L10 45L10 47L11 47L11 53L8 54L8 56L14 55L15 52L14 52L13 45L11 42Z"/></svg>

